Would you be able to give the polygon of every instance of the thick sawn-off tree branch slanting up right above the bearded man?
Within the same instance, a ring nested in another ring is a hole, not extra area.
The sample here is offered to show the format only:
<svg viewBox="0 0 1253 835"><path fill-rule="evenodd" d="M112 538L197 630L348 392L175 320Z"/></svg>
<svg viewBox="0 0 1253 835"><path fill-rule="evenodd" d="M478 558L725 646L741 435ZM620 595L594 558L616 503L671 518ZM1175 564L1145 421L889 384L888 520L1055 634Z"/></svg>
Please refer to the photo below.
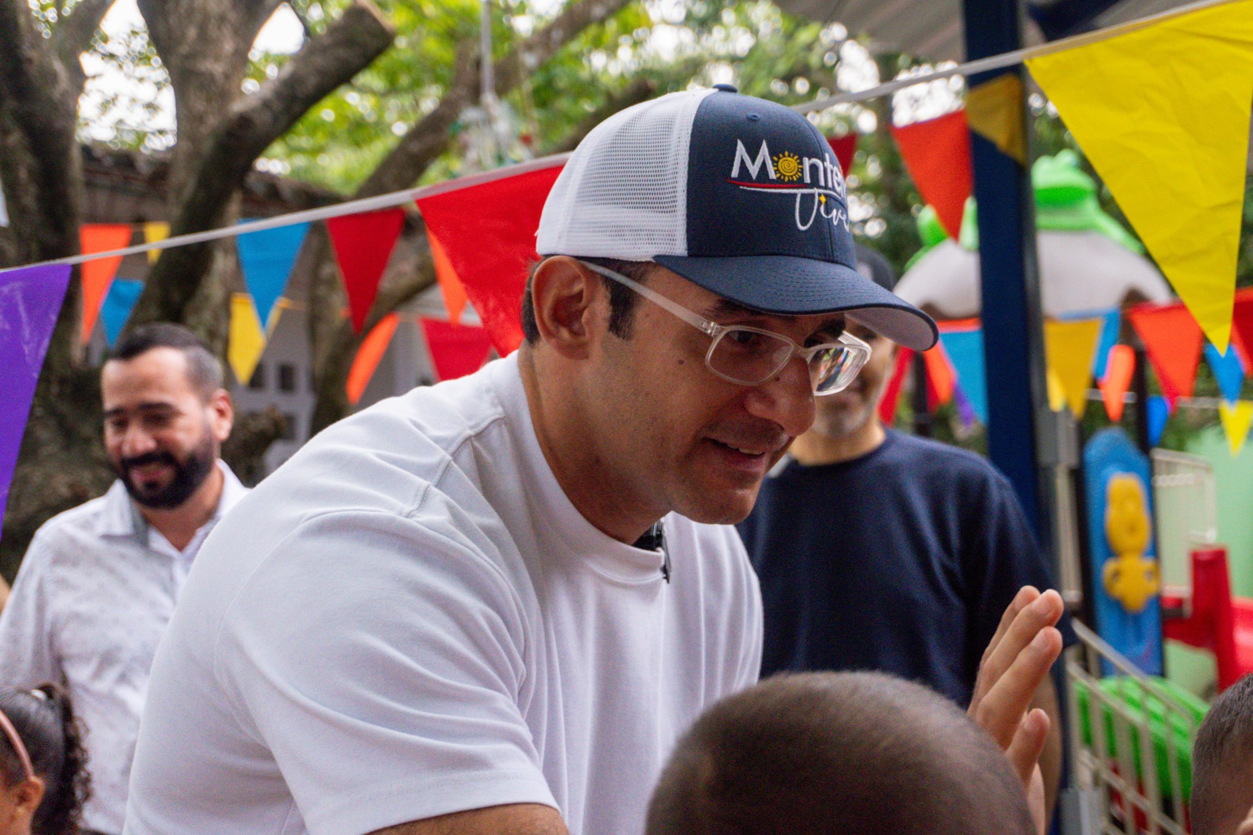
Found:
<svg viewBox="0 0 1253 835"><path fill-rule="evenodd" d="M308 41L273 81L232 108L183 192L170 234L221 225L232 195L266 148L386 51L395 36L370 0L357 0L321 36ZM144 283L128 328L180 320L207 274L208 250L209 244L167 249Z"/></svg>

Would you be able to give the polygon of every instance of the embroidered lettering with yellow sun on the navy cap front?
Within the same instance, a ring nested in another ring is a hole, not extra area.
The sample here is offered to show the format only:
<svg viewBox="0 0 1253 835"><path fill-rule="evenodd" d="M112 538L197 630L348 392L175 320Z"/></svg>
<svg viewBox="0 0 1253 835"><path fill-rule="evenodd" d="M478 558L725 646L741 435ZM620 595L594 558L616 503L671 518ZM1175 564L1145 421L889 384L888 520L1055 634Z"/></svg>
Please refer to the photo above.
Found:
<svg viewBox="0 0 1253 835"><path fill-rule="evenodd" d="M741 165L748 174L748 180L742 179ZM758 182L763 169L766 177L776 180L774 183ZM803 182L801 182L802 179ZM796 228L801 232L813 225L819 214L831 220L832 225L848 228L848 213L845 210L847 200L845 177L829 156L798 156L789 150L772 156L769 145L763 139L757 156L751 158L743 140L737 139L736 161L732 164L730 177L727 178L727 182L746 192L796 195ZM829 202L829 207L827 205L827 195L834 198ZM811 197L812 200L809 202L808 219L802 219L806 197Z"/></svg>

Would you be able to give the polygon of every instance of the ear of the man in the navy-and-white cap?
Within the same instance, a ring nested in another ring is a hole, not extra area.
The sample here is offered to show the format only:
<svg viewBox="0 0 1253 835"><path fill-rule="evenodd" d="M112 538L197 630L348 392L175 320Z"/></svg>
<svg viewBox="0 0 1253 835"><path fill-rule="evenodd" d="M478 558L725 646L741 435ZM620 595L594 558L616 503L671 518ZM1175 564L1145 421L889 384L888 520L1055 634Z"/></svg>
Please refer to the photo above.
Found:
<svg viewBox="0 0 1253 835"><path fill-rule="evenodd" d="M596 337L596 320L606 315L598 305L603 295L600 277L574 258L545 259L531 277L540 341L570 359L586 357Z"/></svg>

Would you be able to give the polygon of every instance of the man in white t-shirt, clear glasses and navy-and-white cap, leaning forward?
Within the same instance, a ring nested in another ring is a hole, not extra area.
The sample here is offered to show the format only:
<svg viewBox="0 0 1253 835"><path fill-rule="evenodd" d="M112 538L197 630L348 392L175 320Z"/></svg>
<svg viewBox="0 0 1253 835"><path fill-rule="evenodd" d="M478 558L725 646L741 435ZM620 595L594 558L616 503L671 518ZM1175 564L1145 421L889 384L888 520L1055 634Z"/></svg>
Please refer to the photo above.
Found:
<svg viewBox="0 0 1253 835"><path fill-rule="evenodd" d="M853 269L832 160L733 89L593 130L544 208L523 347L331 427L205 543L125 831L639 831L678 735L757 679L730 525L865 362L843 312L935 341ZM1024 591L981 682L1025 779L1060 608Z"/></svg>

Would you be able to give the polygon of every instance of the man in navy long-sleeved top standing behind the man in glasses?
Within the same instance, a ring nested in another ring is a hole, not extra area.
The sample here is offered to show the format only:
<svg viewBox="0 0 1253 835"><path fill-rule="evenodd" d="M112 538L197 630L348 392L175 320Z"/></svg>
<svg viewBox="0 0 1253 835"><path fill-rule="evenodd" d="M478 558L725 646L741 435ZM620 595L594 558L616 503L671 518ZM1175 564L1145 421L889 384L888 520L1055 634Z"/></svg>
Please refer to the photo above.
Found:
<svg viewBox="0 0 1253 835"><path fill-rule="evenodd" d="M892 267L857 244L885 289ZM878 406L896 346L871 347L857 379L817 401L813 427L771 471L739 523L764 603L762 677L880 670L970 704L984 647L1022 586L1053 586L1014 488L986 458L885 427ZM1059 627L1076 638L1069 621ZM1061 770L1060 710L1045 680L1032 701L1053 721L1041 759L1050 806Z"/></svg>

